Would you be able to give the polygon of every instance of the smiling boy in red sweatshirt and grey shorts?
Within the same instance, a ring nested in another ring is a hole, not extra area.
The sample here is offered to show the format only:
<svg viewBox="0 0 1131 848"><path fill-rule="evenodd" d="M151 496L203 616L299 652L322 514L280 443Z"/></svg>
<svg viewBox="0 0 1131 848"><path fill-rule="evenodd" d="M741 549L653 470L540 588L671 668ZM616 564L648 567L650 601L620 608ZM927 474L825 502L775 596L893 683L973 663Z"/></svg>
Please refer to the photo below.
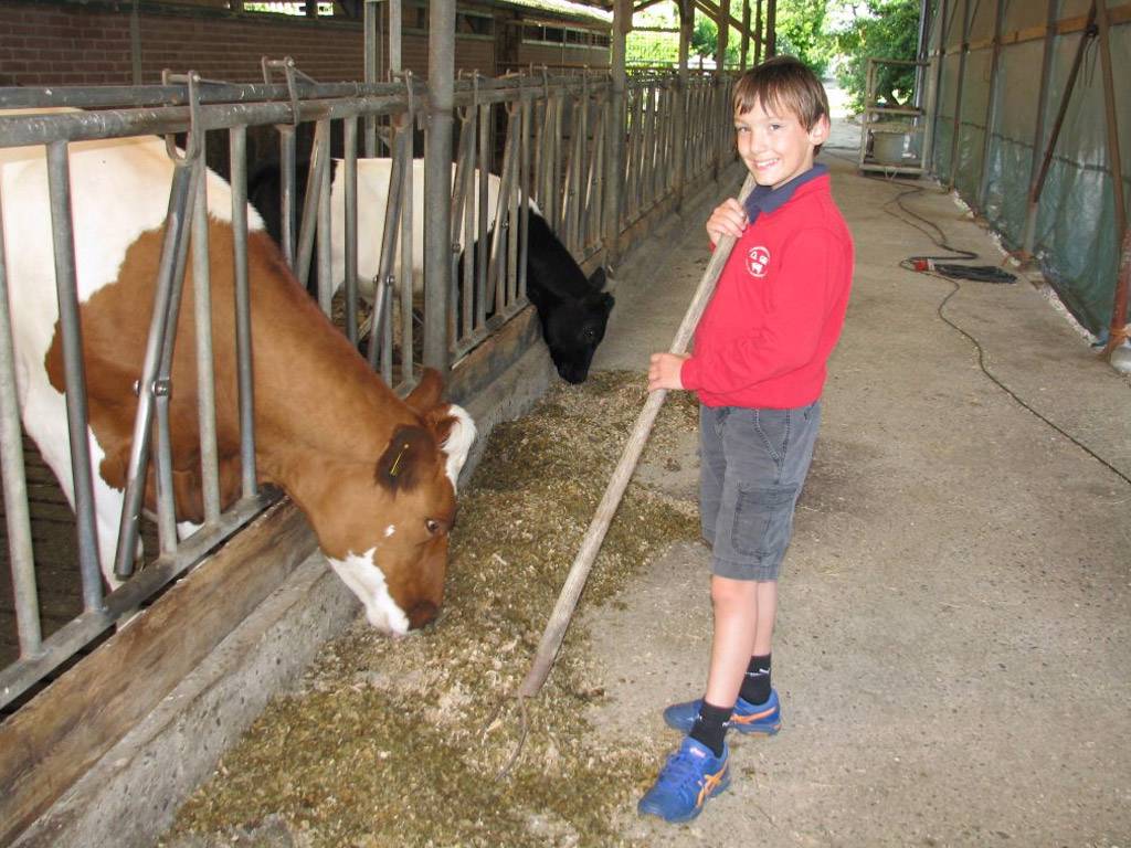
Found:
<svg viewBox="0 0 1131 848"><path fill-rule="evenodd" d="M734 89L739 156L757 187L745 206L711 213L711 243L737 241L696 330L690 356L653 354L648 388L699 395L700 513L711 545L715 630L703 698L664 720L688 733L639 803L642 814L693 819L729 784L728 727L775 734L770 686L777 578L813 457L826 363L852 284L853 243L813 158L829 103L792 57L746 71Z"/></svg>

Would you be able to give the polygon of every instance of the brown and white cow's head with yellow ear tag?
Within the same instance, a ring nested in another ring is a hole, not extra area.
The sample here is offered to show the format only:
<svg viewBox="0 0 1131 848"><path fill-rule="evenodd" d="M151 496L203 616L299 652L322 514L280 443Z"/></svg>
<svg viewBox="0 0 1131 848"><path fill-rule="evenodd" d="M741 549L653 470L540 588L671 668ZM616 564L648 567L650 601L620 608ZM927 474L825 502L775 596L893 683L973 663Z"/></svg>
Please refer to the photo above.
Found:
<svg viewBox="0 0 1131 848"><path fill-rule="evenodd" d="M319 544L378 630L404 635L432 621L443 600L456 481L475 424L439 403L439 374L425 372L399 424L371 461L327 461L316 522Z"/></svg>

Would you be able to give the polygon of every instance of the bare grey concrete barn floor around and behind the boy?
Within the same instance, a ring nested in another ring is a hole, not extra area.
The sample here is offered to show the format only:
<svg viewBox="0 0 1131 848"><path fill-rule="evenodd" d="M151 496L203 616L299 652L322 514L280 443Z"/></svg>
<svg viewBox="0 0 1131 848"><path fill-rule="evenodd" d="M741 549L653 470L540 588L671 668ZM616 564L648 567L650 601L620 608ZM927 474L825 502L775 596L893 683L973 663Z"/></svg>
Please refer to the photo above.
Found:
<svg viewBox="0 0 1131 848"><path fill-rule="evenodd" d="M657 846L1129 846L1131 383L1025 278L955 291L900 269L940 252L884 211L918 183L858 175L856 132L838 127L821 157L857 263L782 580L785 726L733 742L732 788L696 822L627 813L624 832ZM905 205L1001 260L924 189ZM644 370L668 347L707 262L705 219L621 269L595 367ZM677 459L690 473L664 485L696 497L694 443ZM659 712L702 691L707 562L700 546L672 551L624 612L588 622L605 730L677 743Z"/></svg>

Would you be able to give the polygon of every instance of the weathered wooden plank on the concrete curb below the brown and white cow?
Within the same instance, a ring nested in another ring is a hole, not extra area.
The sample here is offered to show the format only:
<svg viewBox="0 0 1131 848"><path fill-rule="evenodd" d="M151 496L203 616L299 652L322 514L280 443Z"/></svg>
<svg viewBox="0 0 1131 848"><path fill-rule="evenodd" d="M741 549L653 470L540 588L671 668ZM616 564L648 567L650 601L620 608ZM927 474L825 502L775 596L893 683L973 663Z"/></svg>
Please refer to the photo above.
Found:
<svg viewBox="0 0 1131 848"><path fill-rule="evenodd" d="M280 501L0 725L0 845L148 713L314 546L305 518Z"/></svg>

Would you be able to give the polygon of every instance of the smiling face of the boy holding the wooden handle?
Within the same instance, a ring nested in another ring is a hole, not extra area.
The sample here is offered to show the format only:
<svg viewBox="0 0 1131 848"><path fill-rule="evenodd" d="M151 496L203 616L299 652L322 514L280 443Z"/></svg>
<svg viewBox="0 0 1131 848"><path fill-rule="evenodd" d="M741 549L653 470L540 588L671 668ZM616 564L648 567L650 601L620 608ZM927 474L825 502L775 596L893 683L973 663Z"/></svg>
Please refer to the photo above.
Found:
<svg viewBox="0 0 1131 848"><path fill-rule="evenodd" d="M806 129L792 111L760 101L734 115L739 156L759 185L780 188L813 166L814 149L829 137L829 119L822 115Z"/></svg>

